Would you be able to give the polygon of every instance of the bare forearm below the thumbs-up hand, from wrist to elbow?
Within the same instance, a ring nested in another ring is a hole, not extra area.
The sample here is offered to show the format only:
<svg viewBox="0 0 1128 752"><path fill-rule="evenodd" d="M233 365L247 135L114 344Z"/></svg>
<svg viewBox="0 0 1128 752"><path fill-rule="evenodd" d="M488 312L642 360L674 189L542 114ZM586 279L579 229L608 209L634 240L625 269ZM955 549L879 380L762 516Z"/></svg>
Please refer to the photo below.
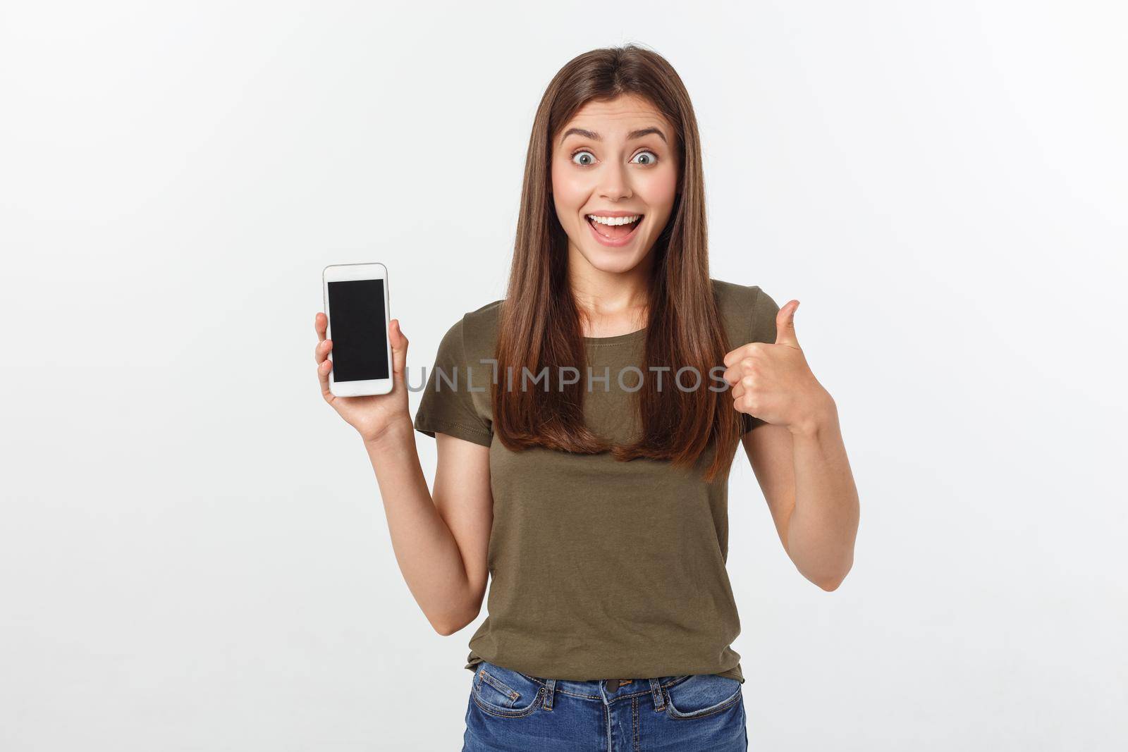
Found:
<svg viewBox="0 0 1128 752"><path fill-rule="evenodd" d="M792 428L792 443L795 507L787 522L787 552L804 577L834 590L854 564L858 497L829 396L805 425Z"/></svg>

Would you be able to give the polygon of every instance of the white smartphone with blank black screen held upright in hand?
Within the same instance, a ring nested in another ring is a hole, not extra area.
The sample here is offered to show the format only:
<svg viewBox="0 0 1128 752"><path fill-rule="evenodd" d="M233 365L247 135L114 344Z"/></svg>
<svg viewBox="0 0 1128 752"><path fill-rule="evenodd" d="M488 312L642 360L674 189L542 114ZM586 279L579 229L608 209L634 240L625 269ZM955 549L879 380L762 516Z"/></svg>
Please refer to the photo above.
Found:
<svg viewBox="0 0 1128 752"><path fill-rule="evenodd" d="M325 338L333 340L329 392L335 397L391 391L388 269L384 264L331 264L321 272Z"/></svg>

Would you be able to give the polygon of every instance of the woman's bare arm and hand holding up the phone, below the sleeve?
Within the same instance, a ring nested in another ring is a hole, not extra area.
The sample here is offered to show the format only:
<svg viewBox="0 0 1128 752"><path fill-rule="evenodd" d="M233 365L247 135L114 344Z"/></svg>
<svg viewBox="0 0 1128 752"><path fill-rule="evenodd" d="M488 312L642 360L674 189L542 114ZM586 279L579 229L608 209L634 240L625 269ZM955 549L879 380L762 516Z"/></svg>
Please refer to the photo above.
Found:
<svg viewBox="0 0 1128 752"><path fill-rule="evenodd" d="M426 487L407 409L404 369L407 337L398 319L388 326L393 390L387 395L335 397L328 388L333 347L327 319L318 313L315 351L321 395L364 441L384 499L391 547L408 590L440 635L474 621L485 595L493 523L490 450L438 433L434 494Z"/></svg>

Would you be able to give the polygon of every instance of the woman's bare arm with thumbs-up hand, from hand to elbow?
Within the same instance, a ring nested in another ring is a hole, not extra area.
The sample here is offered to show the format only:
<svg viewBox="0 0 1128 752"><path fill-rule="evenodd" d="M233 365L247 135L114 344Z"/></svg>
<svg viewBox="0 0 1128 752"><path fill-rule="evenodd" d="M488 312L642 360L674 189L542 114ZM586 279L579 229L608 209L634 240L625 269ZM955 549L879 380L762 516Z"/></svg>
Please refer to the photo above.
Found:
<svg viewBox="0 0 1128 752"><path fill-rule="evenodd" d="M754 342L724 357L733 407L759 417L744 451L764 489L784 550L823 590L854 564L858 496L834 398L814 378L795 336L788 301L776 316L775 343Z"/></svg>

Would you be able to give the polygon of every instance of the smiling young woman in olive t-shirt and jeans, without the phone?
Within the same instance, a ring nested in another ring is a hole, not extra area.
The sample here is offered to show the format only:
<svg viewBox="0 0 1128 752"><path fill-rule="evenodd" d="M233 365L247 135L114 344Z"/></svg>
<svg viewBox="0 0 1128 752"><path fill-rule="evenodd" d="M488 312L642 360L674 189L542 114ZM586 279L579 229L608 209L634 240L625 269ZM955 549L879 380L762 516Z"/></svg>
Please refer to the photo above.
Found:
<svg viewBox="0 0 1128 752"><path fill-rule="evenodd" d="M481 610L465 750L744 750L728 477L742 443L799 570L834 590L858 502L835 401L759 286L708 275L697 123L635 46L569 62L537 110L505 299L395 389L321 393L364 439L404 577L435 630Z"/></svg>

